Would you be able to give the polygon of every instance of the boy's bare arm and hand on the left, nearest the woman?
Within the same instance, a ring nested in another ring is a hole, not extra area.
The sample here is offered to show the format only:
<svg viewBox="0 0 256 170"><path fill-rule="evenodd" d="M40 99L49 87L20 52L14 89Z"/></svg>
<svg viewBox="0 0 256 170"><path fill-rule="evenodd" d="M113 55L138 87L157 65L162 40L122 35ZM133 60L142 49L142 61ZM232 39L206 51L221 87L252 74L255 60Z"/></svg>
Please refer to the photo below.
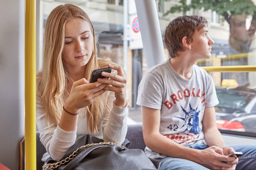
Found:
<svg viewBox="0 0 256 170"><path fill-rule="evenodd" d="M224 161L228 162L229 159L234 158L219 155L218 152L222 152L219 147L212 146L205 150L191 149L161 135L159 132L160 118L160 110L142 106L143 138L146 146L151 150L170 157L188 159L210 169L230 168L230 165Z"/></svg>

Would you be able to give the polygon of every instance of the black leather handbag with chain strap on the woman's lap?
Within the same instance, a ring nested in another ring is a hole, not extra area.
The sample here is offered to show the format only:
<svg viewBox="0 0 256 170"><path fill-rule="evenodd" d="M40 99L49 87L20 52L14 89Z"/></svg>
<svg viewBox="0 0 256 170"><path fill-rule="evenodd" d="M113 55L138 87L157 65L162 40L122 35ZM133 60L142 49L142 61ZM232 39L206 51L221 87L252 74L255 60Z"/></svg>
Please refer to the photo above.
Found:
<svg viewBox="0 0 256 170"><path fill-rule="evenodd" d="M84 135L71 146L62 159L48 159L43 170L158 170L160 161L150 159L142 149L129 145L103 142L93 135Z"/></svg>

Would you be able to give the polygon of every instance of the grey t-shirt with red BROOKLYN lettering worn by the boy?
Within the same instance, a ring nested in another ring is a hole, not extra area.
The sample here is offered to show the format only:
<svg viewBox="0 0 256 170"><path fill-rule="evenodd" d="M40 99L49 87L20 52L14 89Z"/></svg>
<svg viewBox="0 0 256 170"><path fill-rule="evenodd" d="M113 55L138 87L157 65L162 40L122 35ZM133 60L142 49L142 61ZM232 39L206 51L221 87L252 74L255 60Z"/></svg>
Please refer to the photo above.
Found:
<svg viewBox="0 0 256 170"><path fill-rule="evenodd" d="M181 78L169 59L150 68L139 84L137 104L161 110L160 134L180 145L205 144L205 107L219 103L212 77L197 65L189 80ZM150 158L165 156L145 149Z"/></svg>

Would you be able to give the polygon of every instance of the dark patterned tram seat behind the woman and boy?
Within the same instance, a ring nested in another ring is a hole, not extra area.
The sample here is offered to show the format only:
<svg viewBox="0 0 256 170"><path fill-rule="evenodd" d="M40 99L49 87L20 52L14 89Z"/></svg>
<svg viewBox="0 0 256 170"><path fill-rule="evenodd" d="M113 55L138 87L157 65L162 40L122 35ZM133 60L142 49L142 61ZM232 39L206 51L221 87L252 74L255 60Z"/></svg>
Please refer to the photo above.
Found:
<svg viewBox="0 0 256 170"><path fill-rule="evenodd" d="M37 131L37 170L41 170L44 162L42 156L46 152L44 145L40 142L39 132ZM130 141L128 149L145 149L146 145L143 140L142 124L128 125L126 138ZM20 142L20 170L25 170L25 139Z"/></svg>

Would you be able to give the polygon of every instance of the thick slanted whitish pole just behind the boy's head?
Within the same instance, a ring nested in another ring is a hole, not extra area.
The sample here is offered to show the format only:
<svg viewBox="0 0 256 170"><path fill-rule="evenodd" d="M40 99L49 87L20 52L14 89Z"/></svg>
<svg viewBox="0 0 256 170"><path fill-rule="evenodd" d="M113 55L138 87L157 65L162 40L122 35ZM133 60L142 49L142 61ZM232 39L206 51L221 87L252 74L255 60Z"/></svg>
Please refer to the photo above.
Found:
<svg viewBox="0 0 256 170"><path fill-rule="evenodd" d="M164 44L155 0L135 0L147 67L165 60Z"/></svg>

